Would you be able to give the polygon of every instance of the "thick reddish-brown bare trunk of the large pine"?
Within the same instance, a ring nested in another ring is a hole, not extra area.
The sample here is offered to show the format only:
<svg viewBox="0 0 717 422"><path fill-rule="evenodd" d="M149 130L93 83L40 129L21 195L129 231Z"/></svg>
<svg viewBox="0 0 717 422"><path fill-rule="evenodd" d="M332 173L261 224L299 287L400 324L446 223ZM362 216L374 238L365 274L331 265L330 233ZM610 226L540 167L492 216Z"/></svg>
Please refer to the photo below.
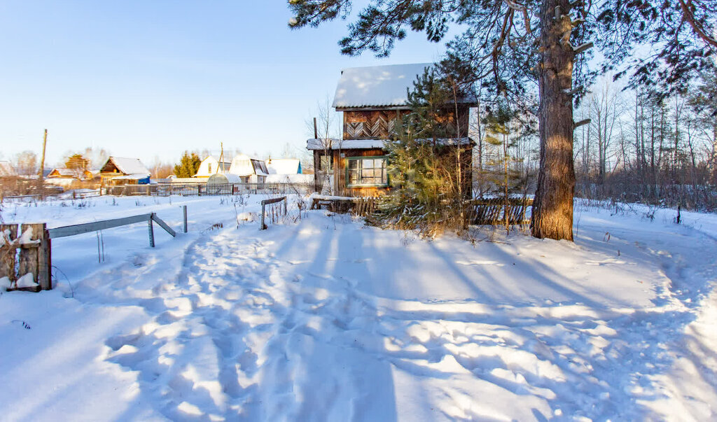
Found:
<svg viewBox="0 0 717 422"><path fill-rule="evenodd" d="M540 173L533 203L531 232L538 238L573 239L573 106L574 53L560 39L571 29L569 19L554 19L555 7L568 14L568 0L546 0L541 6L543 63L540 92Z"/></svg>

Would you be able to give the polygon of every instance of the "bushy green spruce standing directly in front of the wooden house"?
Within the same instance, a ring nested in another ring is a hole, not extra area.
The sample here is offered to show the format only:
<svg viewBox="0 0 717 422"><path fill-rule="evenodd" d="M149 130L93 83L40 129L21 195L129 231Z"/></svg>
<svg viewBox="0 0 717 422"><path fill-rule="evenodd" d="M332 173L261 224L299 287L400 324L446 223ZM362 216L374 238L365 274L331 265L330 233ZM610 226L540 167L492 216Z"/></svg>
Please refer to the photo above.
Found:
<svg viewBox="0 0 717 422"><path fill-rule="evenodd" d="M425 69L409 90L411 111L385 143L391 189L381 197L375 224L427 236L465 225L460 155L456 160L454 154L464 145L452 136L457 116L451 101L450 84L436 69Z"/></svg>

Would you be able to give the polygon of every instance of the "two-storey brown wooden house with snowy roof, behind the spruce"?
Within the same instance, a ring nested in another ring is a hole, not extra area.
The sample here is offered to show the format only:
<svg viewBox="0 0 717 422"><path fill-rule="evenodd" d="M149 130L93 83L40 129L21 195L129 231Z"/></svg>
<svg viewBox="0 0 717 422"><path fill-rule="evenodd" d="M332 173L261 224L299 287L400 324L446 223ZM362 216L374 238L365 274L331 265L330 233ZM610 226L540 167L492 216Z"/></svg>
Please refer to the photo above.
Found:
<svg viewBox="0 0 717 422"><path fill-rule="evenodd" d="M341 71L333 107L343 112L341 139L310 139L317 190L338 196L376 196L389 188L384 141L391 139L394 125L410 111L408 90L431 63L352 67ZM443 145L465 150L461 169L470 187L471 150L468 115L471 101L460 99L457 118L460 134L442 139ZM328 176L328 177L327 177ZM330 183L331 189L323 185ZM468 189L467 189L468 191Z"/></svg>

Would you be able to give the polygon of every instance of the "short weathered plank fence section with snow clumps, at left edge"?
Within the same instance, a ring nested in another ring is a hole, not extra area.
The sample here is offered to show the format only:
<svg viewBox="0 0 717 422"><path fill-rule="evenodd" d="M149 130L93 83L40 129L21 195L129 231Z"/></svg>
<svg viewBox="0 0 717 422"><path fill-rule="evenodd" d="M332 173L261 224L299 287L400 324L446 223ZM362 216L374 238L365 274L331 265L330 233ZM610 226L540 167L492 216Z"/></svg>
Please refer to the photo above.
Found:
<svg viewBox="0 0 717 422"><path fill-rule="evenodd" d="M47 224L21 224L19 229L17 224L0 224L0 280L7 277L9 289L52 289Z"/></svg>

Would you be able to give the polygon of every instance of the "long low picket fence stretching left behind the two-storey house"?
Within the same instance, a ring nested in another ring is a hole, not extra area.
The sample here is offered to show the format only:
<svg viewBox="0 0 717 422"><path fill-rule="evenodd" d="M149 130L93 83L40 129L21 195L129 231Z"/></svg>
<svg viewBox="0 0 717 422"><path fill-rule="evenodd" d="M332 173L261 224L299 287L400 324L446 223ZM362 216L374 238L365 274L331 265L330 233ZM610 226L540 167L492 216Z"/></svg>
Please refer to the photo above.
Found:
<svg viewBox="0 0 717 422"><path fill-rule="evenodd" d="M256 195L308 195L313 183L156 183L152 185L107 186L108 195L117 196L226 196L252 193Z"/></svg>

